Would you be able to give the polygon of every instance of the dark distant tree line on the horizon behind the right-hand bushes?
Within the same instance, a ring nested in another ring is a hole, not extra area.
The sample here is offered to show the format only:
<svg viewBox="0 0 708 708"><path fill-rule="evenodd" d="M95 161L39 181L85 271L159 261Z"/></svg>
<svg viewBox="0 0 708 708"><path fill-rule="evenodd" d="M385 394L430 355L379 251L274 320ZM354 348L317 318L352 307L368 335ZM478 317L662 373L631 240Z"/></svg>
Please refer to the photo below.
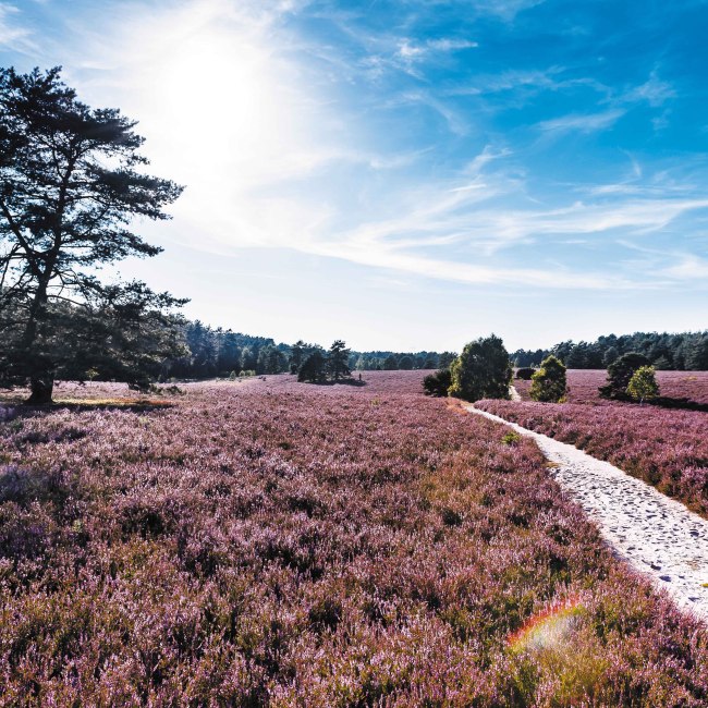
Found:
<svg viewBox="0 0 708 708"><path fill-rule="evenodd" d="M517 367L539 366L552 354L569 369L603 369L630 352L643 354L658 370L708 370L708 330L680 334L608 334L595 342L560 342L550 350L517 350L511 357Z"/></svg>

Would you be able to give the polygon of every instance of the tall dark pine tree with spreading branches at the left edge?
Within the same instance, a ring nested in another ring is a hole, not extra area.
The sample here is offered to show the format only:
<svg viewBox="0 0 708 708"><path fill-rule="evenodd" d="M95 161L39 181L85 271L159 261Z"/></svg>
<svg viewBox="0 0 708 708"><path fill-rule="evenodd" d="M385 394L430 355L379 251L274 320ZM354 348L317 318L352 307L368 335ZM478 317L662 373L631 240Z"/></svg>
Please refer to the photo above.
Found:
<svg viewBox="0 0 708 708"><path fill-rule="evenodd" d="M136 217L167 219L163 208L182 191L141 170L148 162L134 126L115 109L78 101L59 69L0 70L0 376L28 379L30 403L51 400L68 345L82 371L145 379L142 363L160 345L141 317L170 330L162 313L185 302L143 283L107 286L95 274L129 256L157 255L129 227Z"/></svg>

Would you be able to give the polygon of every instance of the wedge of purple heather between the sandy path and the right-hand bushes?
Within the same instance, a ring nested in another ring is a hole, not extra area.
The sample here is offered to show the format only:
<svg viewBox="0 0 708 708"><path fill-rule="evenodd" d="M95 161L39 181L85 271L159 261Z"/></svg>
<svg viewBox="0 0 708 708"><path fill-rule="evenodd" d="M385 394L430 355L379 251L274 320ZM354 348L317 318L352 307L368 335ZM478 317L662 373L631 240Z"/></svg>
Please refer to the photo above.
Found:
<svg viewBox="0 0 708 708"><path fill-rule="evenodd" d="M636 404L509 403L480 408L644 479L708 517L708 414Z"/></svg>

